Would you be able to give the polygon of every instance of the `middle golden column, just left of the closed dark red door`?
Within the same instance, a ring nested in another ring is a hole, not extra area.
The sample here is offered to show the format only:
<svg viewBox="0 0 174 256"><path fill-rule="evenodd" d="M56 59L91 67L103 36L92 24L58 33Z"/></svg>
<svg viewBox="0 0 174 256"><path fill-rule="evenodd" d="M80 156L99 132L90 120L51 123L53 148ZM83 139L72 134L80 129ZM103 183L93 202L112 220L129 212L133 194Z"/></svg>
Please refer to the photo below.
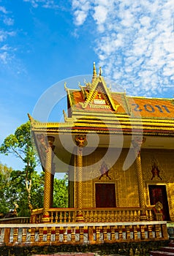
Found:
<svg viewBox="0 0 174 256"><path fill-rule="evenodd" d="M86 142L86 135L76 135L77 144L77 165L76 165L76 187L77 187L77 221L83 222L82 202L83 202L83 146Z"/></svg>

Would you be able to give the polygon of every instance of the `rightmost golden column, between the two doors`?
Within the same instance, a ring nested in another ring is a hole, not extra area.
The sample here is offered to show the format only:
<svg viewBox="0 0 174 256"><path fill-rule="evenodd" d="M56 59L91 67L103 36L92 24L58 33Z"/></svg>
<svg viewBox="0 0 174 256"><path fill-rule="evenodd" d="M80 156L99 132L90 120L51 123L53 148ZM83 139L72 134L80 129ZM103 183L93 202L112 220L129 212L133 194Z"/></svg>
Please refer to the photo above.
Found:
<svg viewBox="0 0 174 256"><path fill-rule="evenodd" d="M145 138L143 140L141 138L137 138L133 140L132 144L135 150L135 165L137 170L137 187L138 187L138 195L139 195L139 202L140 208L143 208L140 214L140 219L145 220L147 219L145 214L145 196L144 196L144 186L143 186L143 173L142 173L142 165L141 165L141 145L145 142Z"/></svg>

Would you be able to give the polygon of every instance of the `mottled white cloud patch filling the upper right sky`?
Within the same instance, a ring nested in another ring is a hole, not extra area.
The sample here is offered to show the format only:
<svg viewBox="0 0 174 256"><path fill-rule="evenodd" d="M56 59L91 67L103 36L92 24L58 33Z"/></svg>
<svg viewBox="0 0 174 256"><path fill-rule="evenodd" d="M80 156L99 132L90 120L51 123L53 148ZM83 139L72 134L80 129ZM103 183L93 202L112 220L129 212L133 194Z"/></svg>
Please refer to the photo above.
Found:
<svg viewBox="0 0 174 256"><path fill-rule="evenodd" d="M93 19L105 76L129 94L174 91L173 0L72 0L72 10L76 26Z"/></svg>

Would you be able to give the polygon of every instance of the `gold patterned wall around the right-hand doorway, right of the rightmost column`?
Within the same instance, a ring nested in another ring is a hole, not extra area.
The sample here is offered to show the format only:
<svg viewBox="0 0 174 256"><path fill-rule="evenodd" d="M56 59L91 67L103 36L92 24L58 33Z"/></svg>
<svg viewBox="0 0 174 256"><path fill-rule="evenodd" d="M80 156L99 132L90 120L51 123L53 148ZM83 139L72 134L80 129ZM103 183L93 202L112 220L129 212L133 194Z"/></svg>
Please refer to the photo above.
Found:
<svg viewBox="0 0 174 256"><path fill-rule="evenodd" d="M146 205L150 205L148 192L149 185L164 185L167 192L167 203L170 211L170 219L174 220L174 157L173 151L162 149L144 149L142 156L142 171L145 186ZM153 175L154 162L159 172Z"/></svg>

